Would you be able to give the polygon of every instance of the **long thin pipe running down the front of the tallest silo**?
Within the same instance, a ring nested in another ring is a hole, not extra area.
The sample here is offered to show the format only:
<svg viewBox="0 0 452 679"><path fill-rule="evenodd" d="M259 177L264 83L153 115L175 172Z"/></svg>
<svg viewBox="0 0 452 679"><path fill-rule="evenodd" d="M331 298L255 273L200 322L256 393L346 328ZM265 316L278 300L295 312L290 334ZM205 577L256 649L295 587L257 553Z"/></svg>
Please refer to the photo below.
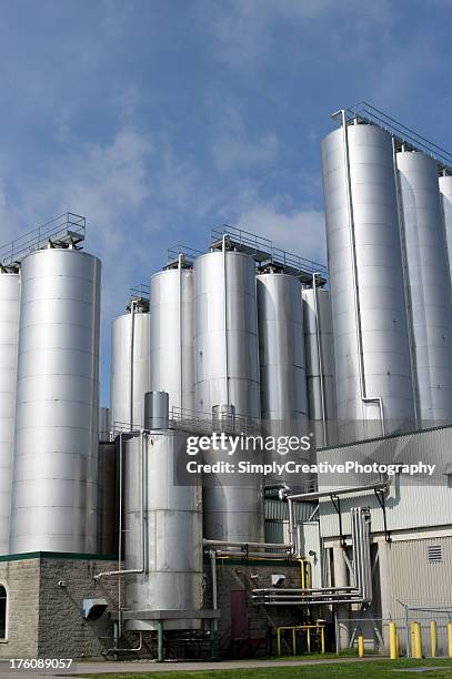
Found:
<svg viewBox="0 0 452 679"><path fill-rule="evenodd" d="M360 393L362 403L378 403L380 408L380 420L381 420L381 433L385 436L384 426L384 408L383 399L380 396L368 396L365 388L365 371L364 371L364 352L362 346L362 334L361 334L361 311L360 311L360 293L358 285L358 265L356 265L356 249L354 237L354 216L353 216L353 201L352 201L352 189L350 180L350 158L349 158L349 134L346 125L346 113L345 110L341 110L342 116L342 131L343 131L343 148L344 148L344 168L345 168L345 188L346 188L346 203L349 212L349 231L350 231L350 251L352 259L352 278L353 278L353 297L354 297L354 322L356 330L356 343L358 343L358 364L360 373Z"/></svg>

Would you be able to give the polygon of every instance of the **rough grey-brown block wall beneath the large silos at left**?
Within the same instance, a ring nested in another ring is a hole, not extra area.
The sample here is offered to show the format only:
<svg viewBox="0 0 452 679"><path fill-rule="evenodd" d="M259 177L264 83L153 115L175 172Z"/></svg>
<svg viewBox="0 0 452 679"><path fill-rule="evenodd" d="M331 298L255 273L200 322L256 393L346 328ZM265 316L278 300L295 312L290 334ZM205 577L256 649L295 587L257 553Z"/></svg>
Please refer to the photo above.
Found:
<svg viewBox="0 0 452 679"><path fill-rule="evenodd" d="M77 555L2 557L0 584L7 587L9 610L0 659L100 657L112 645L109 611L118 609L118 578L93 576L117 567L118 561ZM98 620L83 620L83 599L100 597L109 610Z"/></svg>

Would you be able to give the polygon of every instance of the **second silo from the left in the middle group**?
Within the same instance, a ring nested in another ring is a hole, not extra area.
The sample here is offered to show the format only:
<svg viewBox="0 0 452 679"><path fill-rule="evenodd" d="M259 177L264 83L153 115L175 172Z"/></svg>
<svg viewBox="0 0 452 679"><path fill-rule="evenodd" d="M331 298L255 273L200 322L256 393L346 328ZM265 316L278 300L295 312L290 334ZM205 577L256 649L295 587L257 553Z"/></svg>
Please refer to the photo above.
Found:
<svg viewBox="0 0 452 679"><path fill-rule="evenodd" d="M170 414L194 409L193 272L167 268L151 278L151 388L168 392Z"/></svg>

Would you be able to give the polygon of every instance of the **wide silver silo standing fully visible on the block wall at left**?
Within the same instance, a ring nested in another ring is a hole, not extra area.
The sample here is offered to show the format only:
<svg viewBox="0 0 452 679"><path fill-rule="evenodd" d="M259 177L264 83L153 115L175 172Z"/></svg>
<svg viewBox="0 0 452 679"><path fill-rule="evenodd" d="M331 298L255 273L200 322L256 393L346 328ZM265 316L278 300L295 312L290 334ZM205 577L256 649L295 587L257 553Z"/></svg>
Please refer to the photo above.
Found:
<svg viewBox="0 0 452 679"><path fill-rule="evenodd" d="M76 250L21 264L11 553L94 553L100 262Z"/></svg>

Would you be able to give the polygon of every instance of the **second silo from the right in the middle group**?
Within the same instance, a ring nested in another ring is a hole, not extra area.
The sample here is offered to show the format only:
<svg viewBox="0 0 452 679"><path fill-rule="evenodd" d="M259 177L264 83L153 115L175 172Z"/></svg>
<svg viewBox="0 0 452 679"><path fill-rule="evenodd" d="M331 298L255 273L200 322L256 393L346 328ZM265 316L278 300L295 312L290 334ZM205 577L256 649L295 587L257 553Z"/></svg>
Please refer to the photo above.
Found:
<svg viewBox="0 0 452 679"><path fill-rule="evenodd" d="M257 277L261 407L265 429L275 436L308 433L301 283L294 276Z"/></svg>

